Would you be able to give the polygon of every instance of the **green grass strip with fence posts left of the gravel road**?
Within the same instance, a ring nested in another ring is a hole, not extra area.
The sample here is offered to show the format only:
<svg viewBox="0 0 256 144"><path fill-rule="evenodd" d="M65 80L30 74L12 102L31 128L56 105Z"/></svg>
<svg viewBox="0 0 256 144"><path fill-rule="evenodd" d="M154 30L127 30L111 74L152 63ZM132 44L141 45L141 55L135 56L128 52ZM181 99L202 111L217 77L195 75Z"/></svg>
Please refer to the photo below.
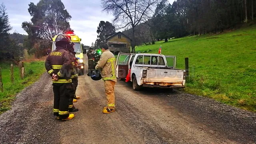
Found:
<svg viewBox="0 0 256 144"><path fill-rule="evenodd" d="M11 102L15 99L15 95L18 92L38 80L41 74L46 71L43 61L25 62L25 78L23 80L20 78L19 68L14 66L14 83L12 83L10 63L2 62L0 63L0 68L2 69L2 82L4 87L4 92L0 92L0 114L10 109Z"/></svg>

